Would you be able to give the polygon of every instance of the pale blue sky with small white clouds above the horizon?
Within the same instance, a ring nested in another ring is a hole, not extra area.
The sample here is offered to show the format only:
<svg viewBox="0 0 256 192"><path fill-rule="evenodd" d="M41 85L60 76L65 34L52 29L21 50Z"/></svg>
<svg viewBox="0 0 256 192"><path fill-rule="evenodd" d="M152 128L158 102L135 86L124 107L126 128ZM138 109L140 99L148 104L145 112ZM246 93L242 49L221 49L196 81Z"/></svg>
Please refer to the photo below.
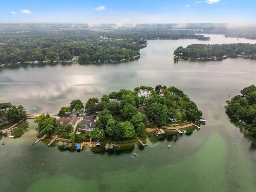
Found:
<svg viewBox="0 0 256 192"><path fill-rule="evenodd" d="M255 0L0 0L0 22L256 22Z"/></svg>

